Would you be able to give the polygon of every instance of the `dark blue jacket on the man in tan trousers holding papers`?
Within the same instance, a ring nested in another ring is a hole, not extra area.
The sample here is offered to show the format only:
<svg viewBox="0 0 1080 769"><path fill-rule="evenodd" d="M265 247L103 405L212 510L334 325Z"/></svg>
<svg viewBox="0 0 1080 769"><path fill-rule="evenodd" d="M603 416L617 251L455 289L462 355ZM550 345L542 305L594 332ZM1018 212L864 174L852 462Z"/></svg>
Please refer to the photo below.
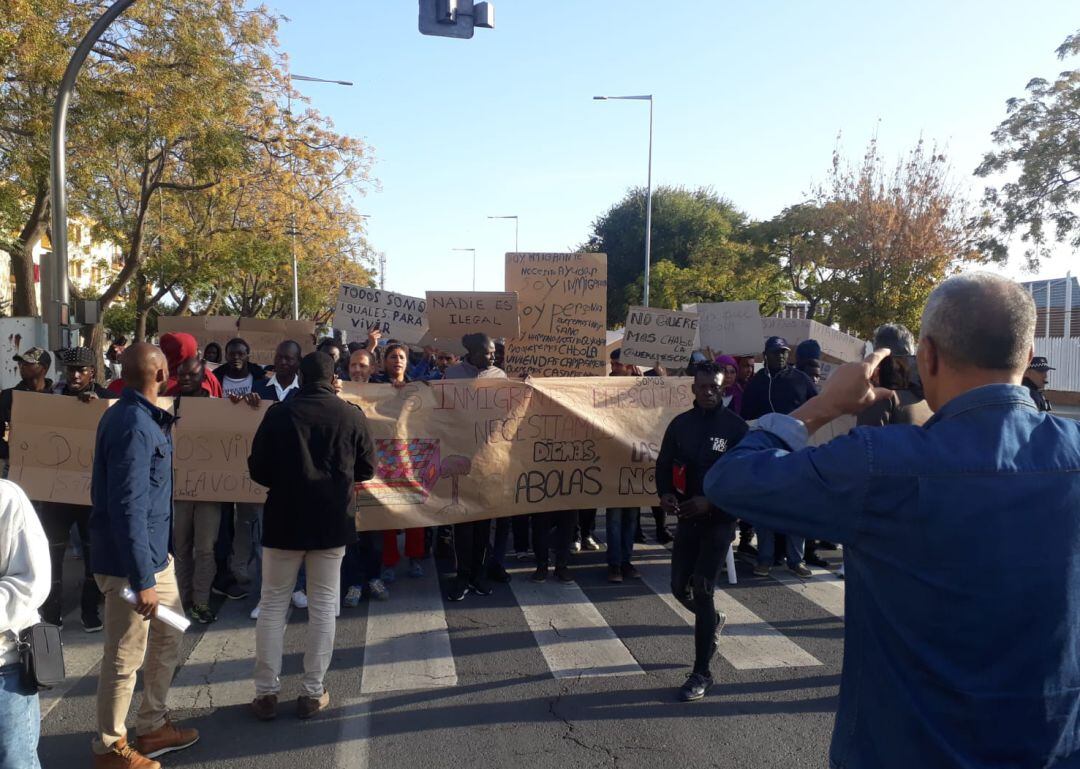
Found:
<svg viewBox="0 0 1080 769"><path fill-rule="evenodd" d="M175 419L131 388L97 423L90 485L91 568L138 592L168 564Z"/></svg>

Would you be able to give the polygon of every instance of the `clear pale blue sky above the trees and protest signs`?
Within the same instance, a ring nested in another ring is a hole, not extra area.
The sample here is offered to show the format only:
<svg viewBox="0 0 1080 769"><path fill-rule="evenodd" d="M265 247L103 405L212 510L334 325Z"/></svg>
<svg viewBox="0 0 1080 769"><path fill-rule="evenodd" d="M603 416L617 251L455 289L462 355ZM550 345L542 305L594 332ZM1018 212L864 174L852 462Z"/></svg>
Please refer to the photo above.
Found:
<svg viewBox="0 0 1080 769"><path fill-rule="evenodd" d="M1054 49L1076 0L496 0L496 29L421 36L415 0L275 0L292 70L340 131L366 140L379 189L359 201L387 254L387 287L499 291L522 251L567 251L644 185L656 98L653 184L711 186L755 218L804 199L837 136L888 158L920 137L958 180L990 147L1027 81L1080 66ZM1017 257L1022 253L1017 245ZM1014 260L1010 273L1026 276ZM1058 249L1040 274L1074 269Z"/></svg>

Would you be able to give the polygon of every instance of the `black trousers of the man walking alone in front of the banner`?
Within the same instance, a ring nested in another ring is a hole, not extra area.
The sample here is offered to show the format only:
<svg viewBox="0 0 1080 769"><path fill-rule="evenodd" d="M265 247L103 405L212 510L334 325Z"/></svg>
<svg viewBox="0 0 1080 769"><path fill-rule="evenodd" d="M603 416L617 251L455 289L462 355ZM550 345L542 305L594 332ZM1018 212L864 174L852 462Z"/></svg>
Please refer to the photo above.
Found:
<svg viewBox="0 0 1080 769"><path fill-rule="evenodd" d="M735 536L733 521L685 518L675 529L672 548L672 594L693 612L693 672L710 675L716 653L716 606L713 593L728 545Z"/></svg>

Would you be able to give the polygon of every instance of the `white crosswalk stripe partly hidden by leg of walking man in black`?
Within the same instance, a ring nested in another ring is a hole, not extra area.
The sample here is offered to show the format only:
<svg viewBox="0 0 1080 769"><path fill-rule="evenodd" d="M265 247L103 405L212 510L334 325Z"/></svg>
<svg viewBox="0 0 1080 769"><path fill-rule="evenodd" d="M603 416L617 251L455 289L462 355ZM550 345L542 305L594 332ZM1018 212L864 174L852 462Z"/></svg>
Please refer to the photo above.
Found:
<svg viewBox="0 0 1080 769"><path fill-rule="evenodd" d="M693 624L693 615L687 611L671 593L670 551L659 544L638 544L636 549L638 553L664 556L640 561L637 563L637 569L653 593L687 624ZM717 590L713 599L716 608L728 618L720 634L717 651L735 670L808 667L821 664L818 658L804 651L798 644L740 604L727 591Z"/></svg>

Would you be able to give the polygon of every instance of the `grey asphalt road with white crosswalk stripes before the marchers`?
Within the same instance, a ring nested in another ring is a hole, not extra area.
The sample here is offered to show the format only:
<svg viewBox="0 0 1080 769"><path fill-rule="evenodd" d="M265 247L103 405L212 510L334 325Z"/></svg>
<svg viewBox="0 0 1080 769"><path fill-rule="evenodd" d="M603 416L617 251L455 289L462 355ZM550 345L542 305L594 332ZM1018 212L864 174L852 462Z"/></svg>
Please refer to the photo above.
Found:
<svg viewBox="0 0 1080 769"><path fill-rule="evenodd" d="M651 522L646 531L651 540ZM280 715L264 724L247 711L252 604L229 602L217 623L187 634L170 702L202 739L163 765L826 766L843 583L827 572L804 583L780 568L755 578L740 563L739 583L717 594L729 618L717 684L685 704L675 690L689 673L692 634L664 589L669 555L645 545L645 579L621 585L607 583L603 552L573 556L572 585L534 585L531 562L522 561L513 583L458 604L442 601L447 576L436 577L433 562L422 580L402 568L390 602L342 610L326 680L330 709L309 721L294 716L307 612L291 615ZM102 636L82 633L77 617L65 628L69 688L43 701L45 769L91 766Z"/></svg>

